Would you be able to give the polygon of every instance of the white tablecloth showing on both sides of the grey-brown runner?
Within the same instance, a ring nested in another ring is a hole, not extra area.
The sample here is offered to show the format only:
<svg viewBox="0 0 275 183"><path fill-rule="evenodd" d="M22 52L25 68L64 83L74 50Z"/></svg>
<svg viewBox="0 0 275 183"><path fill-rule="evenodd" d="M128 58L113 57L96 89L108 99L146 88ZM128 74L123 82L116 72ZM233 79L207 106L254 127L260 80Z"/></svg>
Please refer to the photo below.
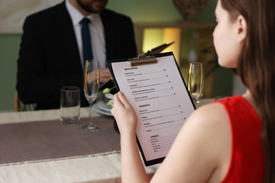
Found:
<svg viewBox="0 0 275 183"><path fill-rule="evenodd" d="M198 106L213 99L204 99ZM88 109L81 108L81 117ZM100 114L92 112L92 116ZM59 119L59 110L0 113L0 124ZM5 148L1 144L1 148ZM1 158L1 157L0 157ZM152 176L159 165L146 168ZM121 154L0 166L0 182L121 182Z"/></svg>

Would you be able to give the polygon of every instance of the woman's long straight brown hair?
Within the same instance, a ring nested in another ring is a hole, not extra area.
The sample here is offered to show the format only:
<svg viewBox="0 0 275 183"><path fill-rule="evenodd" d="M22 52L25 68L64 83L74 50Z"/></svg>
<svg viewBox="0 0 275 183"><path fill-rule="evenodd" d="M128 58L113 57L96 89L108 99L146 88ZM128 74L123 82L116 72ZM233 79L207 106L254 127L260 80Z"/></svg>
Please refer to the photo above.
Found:
<svg viewBox="0 0 275 183"><path fill-rule="evenodd" d="M247 37L237 71L262 119L264 182L275 182L275 1L221 0L221 6L232 20L243 15L247 23Z"/></svg>

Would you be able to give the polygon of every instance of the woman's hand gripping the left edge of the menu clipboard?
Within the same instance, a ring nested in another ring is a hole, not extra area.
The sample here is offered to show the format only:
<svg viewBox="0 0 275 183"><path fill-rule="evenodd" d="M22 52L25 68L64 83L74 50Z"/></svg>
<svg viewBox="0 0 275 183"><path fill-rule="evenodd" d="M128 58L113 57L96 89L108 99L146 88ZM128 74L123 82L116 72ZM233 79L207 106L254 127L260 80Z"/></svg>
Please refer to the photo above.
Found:
<svg viewBox="0 0 275 183"><path fill-rule="evenodd" d="M114 106L111 109L111 113L114 115L114 118L116 118L121 134L127 132L135 134L137 115L122 92L118 92L114 95Z"/></svg>

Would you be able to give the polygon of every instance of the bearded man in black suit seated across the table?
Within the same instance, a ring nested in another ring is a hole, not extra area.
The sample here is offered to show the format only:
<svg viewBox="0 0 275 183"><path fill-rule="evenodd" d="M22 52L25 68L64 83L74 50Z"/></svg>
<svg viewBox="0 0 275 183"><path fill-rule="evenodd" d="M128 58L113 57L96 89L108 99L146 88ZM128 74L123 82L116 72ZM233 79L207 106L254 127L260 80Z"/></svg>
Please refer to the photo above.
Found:
<svg viewBox="0 0 275 183"><path fill-rule="evenodd" d="M133 23L105 9L108 0L66 0L26 18L18 58L16 89L23 103L36 109L59 108L63 86L80 87L81 106L88 106L82 89L80 20L90 18L92 55L99 60L101 82L111 75L106 61L136 56Z"/></svg>

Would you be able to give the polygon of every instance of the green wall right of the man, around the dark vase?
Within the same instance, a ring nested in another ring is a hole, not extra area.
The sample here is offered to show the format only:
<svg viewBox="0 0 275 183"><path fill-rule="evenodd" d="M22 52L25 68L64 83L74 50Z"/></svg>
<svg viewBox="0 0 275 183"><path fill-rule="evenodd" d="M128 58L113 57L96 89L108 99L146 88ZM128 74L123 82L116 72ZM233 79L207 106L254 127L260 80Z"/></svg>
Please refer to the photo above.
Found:
<svg viewBox="0 0 275 183"><path fill-rule="evenodd" d="M203 21L214 21L216 0L209 0L207 8L198 15ZM173 5L173 0L109 0L108 8L129 15L135 23L176 22L181 14Z"/></svg>

